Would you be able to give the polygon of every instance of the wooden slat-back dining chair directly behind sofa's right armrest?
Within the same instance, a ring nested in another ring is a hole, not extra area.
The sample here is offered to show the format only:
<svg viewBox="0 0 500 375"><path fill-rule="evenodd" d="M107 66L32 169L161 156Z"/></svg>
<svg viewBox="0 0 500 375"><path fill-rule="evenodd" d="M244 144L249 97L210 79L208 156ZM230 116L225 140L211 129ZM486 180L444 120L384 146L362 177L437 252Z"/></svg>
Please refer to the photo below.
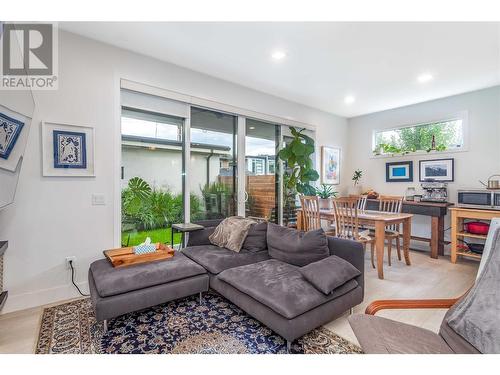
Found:
<svg viewBox="0 0 500 375"><path fill-rule="evenodd" d="M363 244L366 251L366 244L370 244L371 262L375 267L373 256L375 252L375 237L369 233L359 232L358 219L358 199L356 197L344 197L333 200L335 213L335 236L354 240Z"/></svg>

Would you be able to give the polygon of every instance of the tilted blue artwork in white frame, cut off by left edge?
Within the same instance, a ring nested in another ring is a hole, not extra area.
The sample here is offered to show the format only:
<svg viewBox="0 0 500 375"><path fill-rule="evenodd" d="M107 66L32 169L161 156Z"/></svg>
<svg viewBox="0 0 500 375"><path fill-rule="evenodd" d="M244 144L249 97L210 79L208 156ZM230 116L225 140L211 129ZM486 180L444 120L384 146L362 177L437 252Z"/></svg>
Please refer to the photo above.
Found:
<svg viewBox="0 0 500 375"><path fill-rule="evenodd" d="M0 105L0 169L15 172L22 158L31 118Z"/></svg>

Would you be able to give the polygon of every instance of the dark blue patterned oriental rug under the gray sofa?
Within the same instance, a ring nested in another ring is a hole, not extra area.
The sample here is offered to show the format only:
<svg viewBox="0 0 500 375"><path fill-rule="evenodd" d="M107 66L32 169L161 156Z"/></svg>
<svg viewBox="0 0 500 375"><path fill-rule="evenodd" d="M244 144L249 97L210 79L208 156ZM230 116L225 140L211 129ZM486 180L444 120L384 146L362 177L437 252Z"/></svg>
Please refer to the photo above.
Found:
<svg viewBox="0 0 500 375"><path fill-rule="evenodd" d="M96 322L90 299L44 309L37 354L286 353L282 337L219 294L204 294ZM360 353L356 345L325 328L296 340L292 353Z"/></svg>

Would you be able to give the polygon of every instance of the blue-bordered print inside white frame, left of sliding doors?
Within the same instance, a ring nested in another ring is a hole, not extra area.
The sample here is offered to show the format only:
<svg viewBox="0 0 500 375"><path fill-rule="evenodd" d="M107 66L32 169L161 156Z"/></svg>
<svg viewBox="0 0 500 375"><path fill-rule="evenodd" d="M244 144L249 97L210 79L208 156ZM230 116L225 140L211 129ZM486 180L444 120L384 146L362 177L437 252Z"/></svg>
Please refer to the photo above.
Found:
<svg viewBox="0 0 500 375"><path fill-rule="evenodd" d="M53 141L54 168L87 168L85 133L54 130Z"/></svg>

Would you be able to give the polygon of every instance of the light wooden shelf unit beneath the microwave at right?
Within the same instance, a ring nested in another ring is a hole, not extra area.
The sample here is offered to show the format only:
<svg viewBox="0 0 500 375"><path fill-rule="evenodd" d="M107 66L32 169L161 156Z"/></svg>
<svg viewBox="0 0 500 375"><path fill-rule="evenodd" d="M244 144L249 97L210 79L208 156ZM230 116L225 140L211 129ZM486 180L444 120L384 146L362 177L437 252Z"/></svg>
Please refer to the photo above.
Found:
<svg viewBox="0 0 500 375"><path fill-rule="evenodd" d="M474 208L450 208L451 212L451 262L456 263L459 256L481 259L481 255L472 253L470 251L462 250L458 247L460 241L464 238L481 239L485 240L486 235L471 234L464 231L465 220L488 220L495 217L500 218L500 211L493 210L479 210Z"/></svg>

